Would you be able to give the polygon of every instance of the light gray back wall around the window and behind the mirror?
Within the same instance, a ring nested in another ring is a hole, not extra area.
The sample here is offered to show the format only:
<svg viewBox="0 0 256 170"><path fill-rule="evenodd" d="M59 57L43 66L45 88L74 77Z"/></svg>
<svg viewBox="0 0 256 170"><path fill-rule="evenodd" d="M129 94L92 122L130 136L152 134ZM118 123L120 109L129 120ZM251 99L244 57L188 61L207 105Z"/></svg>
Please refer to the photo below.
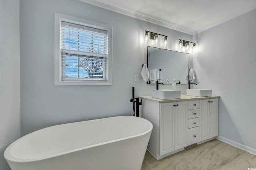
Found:
<svg viewBox="0 0 256 170"><path fill-rule="evenodd" d="M112 86L54 86L54 12L112 25ZM167 35L167 49L175 50L178 39L192 40L192 35L76 0L20 1L21 134L60 123L132 115L132 87L135 96L151 95L156 88L140 76L147 62L145 30Z"/></svg>

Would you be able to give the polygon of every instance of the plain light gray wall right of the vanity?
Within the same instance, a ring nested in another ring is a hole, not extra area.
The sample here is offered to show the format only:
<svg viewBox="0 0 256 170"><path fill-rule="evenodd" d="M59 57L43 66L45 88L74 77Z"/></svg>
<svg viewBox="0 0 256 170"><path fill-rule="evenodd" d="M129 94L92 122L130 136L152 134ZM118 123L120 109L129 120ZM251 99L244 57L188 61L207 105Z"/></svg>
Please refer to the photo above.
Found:
<svg viewBox="0 0 256 170"><path fill-rule="evenodd" d="M200 85L220 95L219 135L256 153L256 10L199 33Z"/></svg>

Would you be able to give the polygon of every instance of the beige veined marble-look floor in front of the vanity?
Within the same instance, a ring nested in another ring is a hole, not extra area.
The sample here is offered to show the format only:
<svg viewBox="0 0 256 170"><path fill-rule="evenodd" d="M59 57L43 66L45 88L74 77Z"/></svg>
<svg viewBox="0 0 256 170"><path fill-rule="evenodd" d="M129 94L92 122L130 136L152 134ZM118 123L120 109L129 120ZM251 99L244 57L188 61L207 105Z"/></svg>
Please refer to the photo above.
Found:
<svg viewBox="0 0 256 170"><path fill-rule="evenodd" d="M256 156L216 139L156 160L146 151L141 170L256 170Z"/></svg>

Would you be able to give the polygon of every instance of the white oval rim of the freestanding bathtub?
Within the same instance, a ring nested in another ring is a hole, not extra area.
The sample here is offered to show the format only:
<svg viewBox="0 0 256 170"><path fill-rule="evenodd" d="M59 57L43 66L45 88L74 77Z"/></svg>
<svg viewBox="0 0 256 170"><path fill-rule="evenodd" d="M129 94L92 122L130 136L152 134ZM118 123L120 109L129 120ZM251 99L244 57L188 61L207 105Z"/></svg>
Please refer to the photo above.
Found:
<svg viewBox="0 0 256 170"><path fill-rule="evenodd" d="M100 119L114 119L116 117L134 117L134 116L114 116L114 117L106 117L106 118L100 118ZM152 131L153 129L153 125L150 121L148 121L147 119L144 119L142 117L136 117L138 119L142 119L143 121L146 121L149 123L150 127L147 131L143 132L143 133L140 133L140 134L137 134L137 135L132 135L132 136L128 136L128 137L123 137L123 138L120 138L120 139L115 139L115 140L111 140L111 141L106 141L106 142L102 142L102 143L97 143L97 144L94 144L94 145L89 145L89 146L86 146L86 147L80 147L80 148L77 148L77 149L72 149L72 150L68 150L68 151L65 151L65 152L60 152L58 154L54 154L54 155L51 155L51 156L42 156L42 157L39 157L39 158L29 158L29 159L22 159L22 158L16 158L14 156L11 155L10 151L12 149L12 146L15 145L18 141L22 140L23 138L29 136L29 135L33 135L34 133L38 133L39 131L42 131L43 129L51 129L53 127L56 127L56 126L64 126L64 125L67 125L67 124L76 124L76 123L81 123L81 122L85 122L85 121L77 121L77 122L72 122L72 123L63 123L63 124L59 124L59 125L53 125L53 126L49 126L49 127L45 127L45 128L42 128L42 129L39 129L39 130L36 130L34 132L31 132L31 133L28 133L27 135L23 136L23 137L20 137L19 139L17 139L16 141L14 141L13 143L11 143L5 150L4 150L4 158L6 159L6 161L10 161L10 162L19 162L19 163L26 163L26 162L34 162L34 161L38 161L38 160L45 160L45 159L48 159L48 158L54 158L54 157L57 157L57 156L60 156L60 155L64 155L64 154L68 154L68 153L72 153L72 152L76 152L76 151L79 151L79 150L84 150L84 149L88 149L88 148L93 148L93 147L98 147L100 145L106 145L108 143L114 143L114 142L118 142L118 141L122 141L122 140L125 140L125 139L130 139L130 138L134 138L134 137L139 137L139 136L142 136L142 135L146 135L147 133L149 133L150 131ZM86 121L97 121L97 120L100 120L100 119L92 119L92 120L86 120Z"/></svg>

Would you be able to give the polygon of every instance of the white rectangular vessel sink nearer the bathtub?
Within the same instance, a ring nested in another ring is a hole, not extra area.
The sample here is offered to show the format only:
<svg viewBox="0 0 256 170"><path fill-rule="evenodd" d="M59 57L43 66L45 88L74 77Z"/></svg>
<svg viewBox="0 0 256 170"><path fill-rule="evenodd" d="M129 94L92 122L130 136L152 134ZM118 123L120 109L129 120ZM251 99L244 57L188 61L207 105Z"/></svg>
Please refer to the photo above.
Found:
<svg viewBox="0 0 256 170"><path fill-rule="evenodd" d="M181 90L152 90L152 98L180 99Z"/></svg>

